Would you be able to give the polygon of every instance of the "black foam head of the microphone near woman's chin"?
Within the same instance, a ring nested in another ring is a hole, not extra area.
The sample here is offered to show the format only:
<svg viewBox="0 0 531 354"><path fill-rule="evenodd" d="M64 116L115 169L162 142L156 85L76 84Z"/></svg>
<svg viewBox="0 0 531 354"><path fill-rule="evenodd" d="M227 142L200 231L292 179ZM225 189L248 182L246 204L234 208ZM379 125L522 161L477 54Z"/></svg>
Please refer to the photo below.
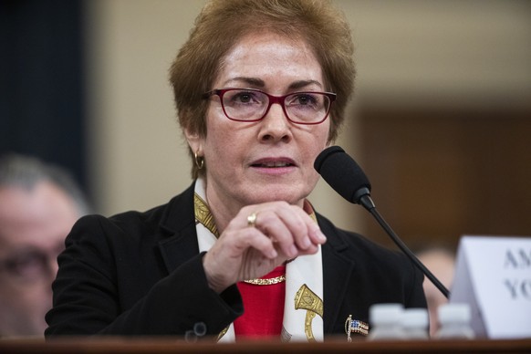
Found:
<svg viewBox="0 0 531 354"><path fill-rule="evenodd" d="M328 184L350 203L370 194L370 182L358 163L338 146L321 151L314 168Z"/></svg>

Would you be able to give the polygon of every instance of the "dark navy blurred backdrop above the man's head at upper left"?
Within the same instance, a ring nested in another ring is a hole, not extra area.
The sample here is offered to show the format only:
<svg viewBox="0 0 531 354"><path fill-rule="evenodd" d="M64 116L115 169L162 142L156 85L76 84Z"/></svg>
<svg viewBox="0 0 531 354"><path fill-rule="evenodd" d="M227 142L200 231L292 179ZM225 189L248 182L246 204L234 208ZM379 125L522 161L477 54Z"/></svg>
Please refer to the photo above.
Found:
<svg viewBox="0 0 531 354"><path fill-rule="evenodd" d="M67 167L84 188L83 6L0 1L0 153Z"/></svg>

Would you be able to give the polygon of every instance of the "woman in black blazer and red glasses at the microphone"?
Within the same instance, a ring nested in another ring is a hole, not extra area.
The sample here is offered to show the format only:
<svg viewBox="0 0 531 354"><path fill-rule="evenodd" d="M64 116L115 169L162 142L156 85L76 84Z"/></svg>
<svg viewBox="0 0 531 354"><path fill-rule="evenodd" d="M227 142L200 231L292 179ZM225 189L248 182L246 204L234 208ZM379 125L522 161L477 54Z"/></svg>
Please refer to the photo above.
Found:
<svg viewBox="0 0 531 354"><path fill-rule="evenodd" d="M322 340L368 307L425 307L402 255L338 230L307 195L353 89L344 17L323 1L206 5L171 70L195 182L170 203L89 216L59 257L47 336Z"/></svg>

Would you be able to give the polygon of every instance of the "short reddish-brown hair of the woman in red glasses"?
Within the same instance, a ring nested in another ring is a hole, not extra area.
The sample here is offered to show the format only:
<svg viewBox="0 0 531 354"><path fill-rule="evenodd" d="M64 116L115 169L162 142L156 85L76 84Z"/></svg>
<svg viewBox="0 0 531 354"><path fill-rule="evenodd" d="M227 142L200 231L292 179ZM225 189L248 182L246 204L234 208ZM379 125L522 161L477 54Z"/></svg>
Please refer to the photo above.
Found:
<svg viewBox="0 0 531 354"><path fill-rule="evenodd" d="M203 93L213 89L224 56L238 40L264 30L299 36L313 49L325 89L338 95L328 134L328 141L335 141L354 89L354 46L345 16L324 0L212 0L205 5L170 69L182 129L206 136L208 101ZM193 178L202 173L193 163Z"/></svg>

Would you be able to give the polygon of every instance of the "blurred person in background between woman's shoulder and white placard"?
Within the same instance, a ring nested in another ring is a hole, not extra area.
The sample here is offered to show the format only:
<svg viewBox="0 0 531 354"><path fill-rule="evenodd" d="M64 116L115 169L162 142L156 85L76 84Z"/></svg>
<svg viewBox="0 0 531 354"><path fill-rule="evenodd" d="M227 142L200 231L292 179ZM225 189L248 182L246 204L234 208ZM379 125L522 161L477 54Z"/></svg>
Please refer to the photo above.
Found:
<svg viewBox="0 0 531 354"><path fill-rule="evenodd" d="M432 246L417 252L417 257L441 281L443 286L448 289L452 287L455 268L455 254L453 251L443 246ZM430 337L433 338L439 328L437 308L448 302L448 299L442 295L441 291L427 277L424 277L422 286L424 287L424 294L426 295L430 313Z"/></svg>

